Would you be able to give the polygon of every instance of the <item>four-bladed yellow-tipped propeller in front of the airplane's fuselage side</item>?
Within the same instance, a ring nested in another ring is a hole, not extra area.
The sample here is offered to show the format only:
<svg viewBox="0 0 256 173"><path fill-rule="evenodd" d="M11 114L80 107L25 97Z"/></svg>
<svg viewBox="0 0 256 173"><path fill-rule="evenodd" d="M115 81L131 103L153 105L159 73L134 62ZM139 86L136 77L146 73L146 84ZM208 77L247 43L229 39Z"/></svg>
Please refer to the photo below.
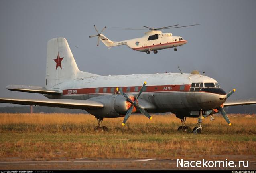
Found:
<svg viewBox="0 0 256 173"><path fill-rule="evenodd" d="M117 91L120 92L120 94L122 96L124 96L128 102L130 102L132 104L132 106L128 109L125 117L124 117L124 120L122 122L122 125L124 126L126 121L128 120L128 118L130 117L130 115L132 114L132 109L133 107L135 107L138 111L140 111L140 113L142 113L143 115L145 115L146 117L148 117L150 120L152 119L151 115L149 115L149 113L143 109L142 107L140 107L140 105L138 105L137 103L137 100L138 98L140 97L142 91L144 91L146 89L146 82L144 82L144 84L142 85L142 87L140 88L140 91L136 97L136 99L134 99L134 101L132 101L122 90L119 90L118 88L116 88Z"/></svg>

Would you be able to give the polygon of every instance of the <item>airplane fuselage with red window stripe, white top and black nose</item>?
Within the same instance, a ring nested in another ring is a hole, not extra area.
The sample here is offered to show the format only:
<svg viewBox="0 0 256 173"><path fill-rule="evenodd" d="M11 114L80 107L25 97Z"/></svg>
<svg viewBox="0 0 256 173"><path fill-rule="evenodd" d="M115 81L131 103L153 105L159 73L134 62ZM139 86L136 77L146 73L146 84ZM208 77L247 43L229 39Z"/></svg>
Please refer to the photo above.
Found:
<svg viewBox="0 0 256 173"><path fill-rule="evenodd" d="M63 90L61 96L45 96L55 99L93 100L93 97L106 95L117 97L118 87L128 96L136 97L144 81L147 82L147 88L138 103L149 113L171 111L193 117L190 111L215 109L227 98L216 80L201 74L181 73L81 77L55 85L52 89ZM114 117L118 116L124 115Z"/></svg>

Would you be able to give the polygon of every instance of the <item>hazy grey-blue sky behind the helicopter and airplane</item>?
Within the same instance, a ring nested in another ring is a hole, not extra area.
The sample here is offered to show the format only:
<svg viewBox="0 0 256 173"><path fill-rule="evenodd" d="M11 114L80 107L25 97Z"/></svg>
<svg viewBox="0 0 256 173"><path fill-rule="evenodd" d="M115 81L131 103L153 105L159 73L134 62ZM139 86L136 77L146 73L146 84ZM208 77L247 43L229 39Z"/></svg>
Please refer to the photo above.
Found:
<svg viewBox="0 0 256 173"><path fill-rule="evenodd" d="M198 70L214 78L229 99L256 98L255 0L0 0L0 97L44 99L40 94L8 91L8 84L45 85L47 41L64 37L79 70L100 75L152 74ZM112 41L138 38L142 30L160 28L182 36L187 44L134 51L127 46L97 47L93 25L104 26ZM0 103L0 106L10 104ZM11 105L10 105L11 106Z"/></svg>

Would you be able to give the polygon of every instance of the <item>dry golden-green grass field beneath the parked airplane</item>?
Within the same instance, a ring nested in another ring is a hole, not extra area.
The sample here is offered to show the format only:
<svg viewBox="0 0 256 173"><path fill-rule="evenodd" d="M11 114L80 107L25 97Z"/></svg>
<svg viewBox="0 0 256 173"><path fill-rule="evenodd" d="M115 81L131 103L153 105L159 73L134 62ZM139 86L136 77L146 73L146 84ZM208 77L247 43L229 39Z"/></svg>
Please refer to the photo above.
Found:
<svg viewBox="0 0 256 173"><path fill-rule="evenodd" d="M225 158L256 155L256 116L219 115L203 120L201 134L180 133L174 115L132 115L104 119L109 131L93 131L98 124L87 114L0 114L0 160L57 160L74 158ZM197 119L187 119L195 127Z"/></svg>

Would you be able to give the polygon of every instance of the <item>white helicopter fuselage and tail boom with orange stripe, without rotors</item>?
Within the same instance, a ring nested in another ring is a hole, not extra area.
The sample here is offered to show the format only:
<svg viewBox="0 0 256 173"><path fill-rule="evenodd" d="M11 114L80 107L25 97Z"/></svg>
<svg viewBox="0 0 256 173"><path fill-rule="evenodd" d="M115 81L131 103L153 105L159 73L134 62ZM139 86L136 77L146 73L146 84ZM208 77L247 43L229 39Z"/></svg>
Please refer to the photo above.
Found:
<svg viewBox="0 0 256 173"><path fill-rule="evenodd" d="M172 33L162 33L162 31L148 31L140 38L112 42L106 36L101 34L100 40L108 47L126 45L133 50L140 52L150 52L166 48L173 48L187 43L180 36L173 36ZM177 50L177 49L176 49Z"/></svg>

